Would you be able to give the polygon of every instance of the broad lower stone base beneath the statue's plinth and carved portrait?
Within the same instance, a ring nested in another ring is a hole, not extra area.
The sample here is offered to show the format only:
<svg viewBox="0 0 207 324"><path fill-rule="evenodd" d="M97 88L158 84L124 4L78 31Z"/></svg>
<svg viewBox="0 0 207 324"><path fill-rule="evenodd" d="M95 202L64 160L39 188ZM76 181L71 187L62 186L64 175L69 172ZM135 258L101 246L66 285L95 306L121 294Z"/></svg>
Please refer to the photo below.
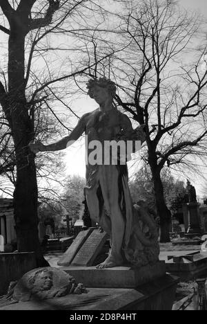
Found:
<svg viewBox="0 0 207 324"><path fill-rule="evenodd" d="M171 310L177 282L165 275L139 289L90 288L88 294L17 303L1 310Z"/></svg>

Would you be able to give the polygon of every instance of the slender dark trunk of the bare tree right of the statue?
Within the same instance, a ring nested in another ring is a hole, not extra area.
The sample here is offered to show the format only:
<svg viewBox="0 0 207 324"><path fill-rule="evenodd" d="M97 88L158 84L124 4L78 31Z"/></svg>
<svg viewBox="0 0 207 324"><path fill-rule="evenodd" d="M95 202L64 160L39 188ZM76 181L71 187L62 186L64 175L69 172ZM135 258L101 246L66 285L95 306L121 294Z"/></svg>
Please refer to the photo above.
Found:
<svg viewBox="0 0 207 324"><path fill-rule="evenodd" d="M168 210L168 207L166 206L166 201L164 198L164 188L161 182L159 166L157 165L156 153L149 153L149 163L155 189L155 202L157 207L157 214L160 218L160 242L166 243L170 242L171 213L170 210Z"/></svg>

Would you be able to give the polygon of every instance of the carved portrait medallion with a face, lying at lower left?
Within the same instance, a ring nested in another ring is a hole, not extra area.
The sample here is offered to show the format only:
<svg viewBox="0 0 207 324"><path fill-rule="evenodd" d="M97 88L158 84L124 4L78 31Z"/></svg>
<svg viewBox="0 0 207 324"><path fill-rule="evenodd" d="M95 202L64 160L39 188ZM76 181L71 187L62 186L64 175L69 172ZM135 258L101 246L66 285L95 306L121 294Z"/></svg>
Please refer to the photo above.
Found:
<svg viewBox="0 0 207 324"><path fill-rule="evenodd" d="M68 294L87 293L75 278L57 268L39 268L26 273L18 282L12 282L8 294L0 299L0 306L28 300L44 300Z"/></svg>

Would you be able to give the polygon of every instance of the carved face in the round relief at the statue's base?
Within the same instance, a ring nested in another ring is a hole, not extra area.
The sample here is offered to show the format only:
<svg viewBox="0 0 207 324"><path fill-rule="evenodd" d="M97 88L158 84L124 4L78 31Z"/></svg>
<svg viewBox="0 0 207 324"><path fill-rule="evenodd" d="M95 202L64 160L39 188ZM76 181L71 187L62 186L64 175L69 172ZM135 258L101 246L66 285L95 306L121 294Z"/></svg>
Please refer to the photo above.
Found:
<svg viewBox="0 0 207 324"><path fill-rule="evenodd" d="M49 270L37 271L29 280L32 291L46 291L52 288L52 272Z"/></svg>

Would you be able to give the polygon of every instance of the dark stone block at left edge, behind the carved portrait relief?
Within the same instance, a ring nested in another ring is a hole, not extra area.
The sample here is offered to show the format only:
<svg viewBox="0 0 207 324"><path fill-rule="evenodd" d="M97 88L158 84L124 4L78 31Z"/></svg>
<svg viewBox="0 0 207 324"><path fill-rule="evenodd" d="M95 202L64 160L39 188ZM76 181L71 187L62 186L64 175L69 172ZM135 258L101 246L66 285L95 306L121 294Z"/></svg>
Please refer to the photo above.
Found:
<svg viewBox="0 0 207 324"><path fill-rule="evenodd" d="M24 273L36 267L32 252L0 253L0 296L7 293L10 282L19 280Z"/></svg>

